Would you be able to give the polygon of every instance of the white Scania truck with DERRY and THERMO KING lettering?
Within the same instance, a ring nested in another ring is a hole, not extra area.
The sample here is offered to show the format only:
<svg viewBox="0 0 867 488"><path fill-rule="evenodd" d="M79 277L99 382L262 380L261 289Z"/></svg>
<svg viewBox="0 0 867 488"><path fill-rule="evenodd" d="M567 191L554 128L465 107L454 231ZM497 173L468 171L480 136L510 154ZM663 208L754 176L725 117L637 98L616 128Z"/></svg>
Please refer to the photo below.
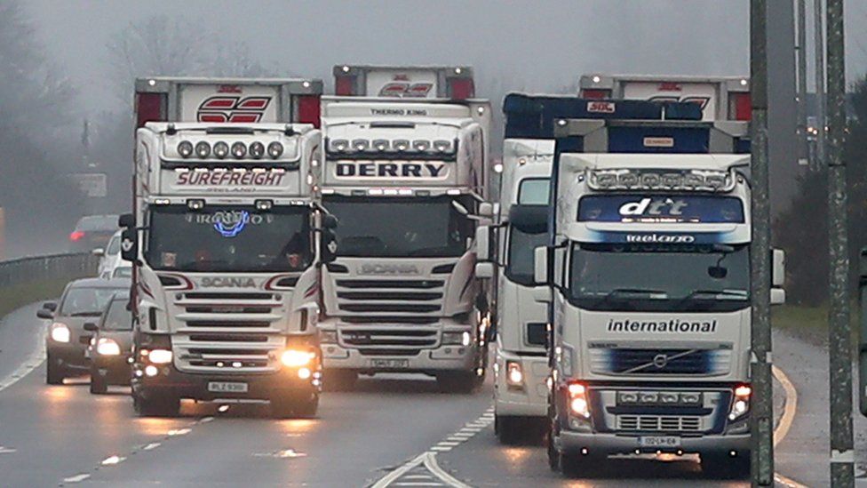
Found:
<svg viewBox="0 0 867 488"><path fill-rule="evenodd" d="M340 222L322 274L327 381L414 372L469 391L486 364L475 229L490 219L486 100L326 97L323 205Z"/></svg>

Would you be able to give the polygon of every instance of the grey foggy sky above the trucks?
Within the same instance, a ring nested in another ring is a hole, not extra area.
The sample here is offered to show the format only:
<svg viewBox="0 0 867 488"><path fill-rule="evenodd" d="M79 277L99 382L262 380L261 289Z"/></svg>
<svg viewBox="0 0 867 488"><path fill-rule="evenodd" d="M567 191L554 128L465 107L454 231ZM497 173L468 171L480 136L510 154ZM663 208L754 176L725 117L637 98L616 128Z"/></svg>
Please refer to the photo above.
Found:
<svg viewBox="0 0 867 488"><path fill-rule="evenodd" d="M25 5L48 58L76 85L87 114L118 108L106 95L109 36L155 13L187 20L192 30L208 26L241 40L279 73L329 83L330 68L339 63L470 64L480 87L499 79L505 87L530 92L565 88L593 71L740 76L749 67L748 0L30 0ZM864 2L847 2L850 79L867 64L865 20Z"/></svg>

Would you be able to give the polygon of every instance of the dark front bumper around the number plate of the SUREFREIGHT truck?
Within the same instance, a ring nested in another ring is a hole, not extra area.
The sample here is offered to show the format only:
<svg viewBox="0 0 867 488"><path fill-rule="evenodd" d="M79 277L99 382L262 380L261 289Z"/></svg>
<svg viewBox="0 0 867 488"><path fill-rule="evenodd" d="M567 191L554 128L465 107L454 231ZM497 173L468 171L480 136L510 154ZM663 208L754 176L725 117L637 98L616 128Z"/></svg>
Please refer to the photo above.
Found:
<svg viewBox="0 0 867 488"><path fill-rule="evenodd" d="M139 368L140 366L140 368ZM179 372L173 364L155 365L158 373L147 376L145 366L136 364L132 374L132 393L142 398L171 396L203 402L270 401L275 398L310 397L321 391L320 373L309 378L298 377L298 369L282 368L276 372L247 374L210 374ZM243 383L246 392L211 391L212 382Z"/></svg>

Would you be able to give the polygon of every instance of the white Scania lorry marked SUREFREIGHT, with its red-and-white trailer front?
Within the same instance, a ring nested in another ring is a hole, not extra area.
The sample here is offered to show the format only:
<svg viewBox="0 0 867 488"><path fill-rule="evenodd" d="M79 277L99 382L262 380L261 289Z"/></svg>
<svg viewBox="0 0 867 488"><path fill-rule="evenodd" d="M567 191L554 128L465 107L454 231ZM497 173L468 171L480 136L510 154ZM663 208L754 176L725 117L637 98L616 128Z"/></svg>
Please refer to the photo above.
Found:
<svg viewBox="0 0 867 488"><path fill-rule="evenodd" d="M120 222L136 411L175 414L187 398L314 414L320 244L335 223L319 204L322 83L136 86L135 208Z"/></svg>

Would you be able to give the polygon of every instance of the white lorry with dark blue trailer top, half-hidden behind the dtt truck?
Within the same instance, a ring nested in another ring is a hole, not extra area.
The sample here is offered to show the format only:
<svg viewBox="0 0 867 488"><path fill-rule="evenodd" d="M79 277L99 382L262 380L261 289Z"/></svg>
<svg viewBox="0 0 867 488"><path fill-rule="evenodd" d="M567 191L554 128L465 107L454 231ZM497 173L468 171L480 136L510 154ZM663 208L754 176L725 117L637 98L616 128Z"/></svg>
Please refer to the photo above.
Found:
<svg viewBox="0 0 867 488"><path fill-rule="evenodd" d="M544 425L547 415L548 308L534 299L545 284L533 275L533 250L547 242L548 187L554 156L554 123L562 117L700 117L692 104L585 100L574 96L510 93L505 97L505 140L500 198L493 226L478 230L476 276L489 278L496 298L494 363L495 432L516 441ZM535 214L515 222L511 215ZM523 224L523 225L521 225Z"/></svg>

